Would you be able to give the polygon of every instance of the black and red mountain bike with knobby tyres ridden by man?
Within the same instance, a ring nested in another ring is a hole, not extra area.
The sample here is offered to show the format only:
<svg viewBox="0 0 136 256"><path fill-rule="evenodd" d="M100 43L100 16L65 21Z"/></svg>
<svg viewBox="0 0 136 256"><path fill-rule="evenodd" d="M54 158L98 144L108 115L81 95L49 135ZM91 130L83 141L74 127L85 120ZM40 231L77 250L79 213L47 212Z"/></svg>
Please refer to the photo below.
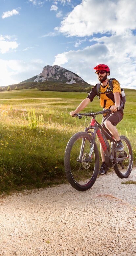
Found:
<svg viewBox="0 0 136 256"><path fill-rule="evenodd" d="M79 191L90 189L96 181L99 171L99 151L96 140L96 134L102 145L105 164L109 168L114 168L119 178L127 178L133 167L133 153L130 141L124 135L120 136L124 149L122 152L114 152L117 142L106 132L100 123L95 119L96 115L111 112L110 109L75 114L79 119L83 116L89 121L92 117L89 127L84 132L74 134L69 140L65 150L65 173L69 183L73 188ZM90 121L89 121L90 122ZM91 131L93 129L93 131ZM109 140L109 142L108 142Z"/></svg>

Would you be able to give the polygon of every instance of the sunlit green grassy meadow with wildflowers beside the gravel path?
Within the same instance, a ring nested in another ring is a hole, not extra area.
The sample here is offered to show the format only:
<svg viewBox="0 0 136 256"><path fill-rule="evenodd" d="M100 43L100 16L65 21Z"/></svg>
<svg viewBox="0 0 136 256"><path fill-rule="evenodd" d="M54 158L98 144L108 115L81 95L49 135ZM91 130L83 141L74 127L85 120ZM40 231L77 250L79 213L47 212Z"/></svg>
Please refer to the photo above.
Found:
<svg viewBox="0 0 136 256"><path fill-rule="evenodd" d="M125 90L124 118L118 124L136 163L136 90ZM64 152L70 137L89 122L69 112L87 97L82 92L37 89L0 92L0 191L40 188L66 181ZM97 97L82 112L100 111ZM96 118L101 122L102 116ZM99 146L99 142L97 139Z"/></svg>

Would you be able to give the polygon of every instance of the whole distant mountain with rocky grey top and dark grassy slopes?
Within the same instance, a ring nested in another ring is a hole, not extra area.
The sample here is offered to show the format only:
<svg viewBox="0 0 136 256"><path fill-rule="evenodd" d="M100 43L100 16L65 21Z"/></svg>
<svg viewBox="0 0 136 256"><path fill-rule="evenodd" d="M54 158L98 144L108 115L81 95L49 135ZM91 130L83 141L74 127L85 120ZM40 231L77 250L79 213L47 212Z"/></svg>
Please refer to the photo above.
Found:
<svg viewBox="0 0 136 256"><path fill-rule="evenodd" d="M2 90L20 90L37 88L42 91L89 92L93 85L85 82L77 74L57 65L47 65L42 73L19 84L5 86Z"/></svg>

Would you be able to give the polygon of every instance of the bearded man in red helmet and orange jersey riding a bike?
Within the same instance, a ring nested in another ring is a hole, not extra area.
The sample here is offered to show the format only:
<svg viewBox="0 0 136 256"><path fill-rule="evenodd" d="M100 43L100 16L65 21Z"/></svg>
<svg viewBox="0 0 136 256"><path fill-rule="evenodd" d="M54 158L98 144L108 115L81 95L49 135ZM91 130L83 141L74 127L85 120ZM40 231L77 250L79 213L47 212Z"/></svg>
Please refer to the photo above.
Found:
<svg viewBox="0 0 136 256"><path fill-rule="evenodd" d="M111 90L108 90L109 79L107 78L107 76L110 75L110 69L107 65L99 64L96 67L94 67L94 69L96 70L95 73L97 74L98 79L101 83L100 84L100 91L101 91L100 105L103 109L108 109L108 108L111 109L111 113L107 113L103 115L101 125L104 128L104 130L112 134L112 136L116 139L117 146L115 148L115 152L120 152L124 149L124 145L120 140L119 133L115 126L123 118L123 108L121 106L121 100L120 100L121 87L119 82L116 79L114 79L112 80L113 93L111 92ZM82 109L84 109L89 104L90 101L93 101L96 95L97 95L97 85L92 88L92 90L88 94L88 97L84 99L74 111L70 112L70 115L74 116L75 113L79 113ZM105 164L104 152L101 144L100 144L100 151L102 156L102 165L98 174L105 174L106 164Z"/></svg>

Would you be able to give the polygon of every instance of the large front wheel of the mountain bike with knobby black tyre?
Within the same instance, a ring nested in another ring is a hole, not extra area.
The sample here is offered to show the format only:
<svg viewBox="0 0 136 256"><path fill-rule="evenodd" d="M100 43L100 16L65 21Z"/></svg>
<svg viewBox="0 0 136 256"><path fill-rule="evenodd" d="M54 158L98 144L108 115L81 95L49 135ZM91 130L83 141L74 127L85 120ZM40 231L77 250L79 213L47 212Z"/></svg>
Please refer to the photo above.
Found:
<svg viewBox="0 0 136 256"><path fill-rule="evenodd" d="M92 136L78 132L69 140L65 150L65 173L71 186L79 191L90 189L99 170L99 152L95 143L91 161L88 161Z"/></svg>

